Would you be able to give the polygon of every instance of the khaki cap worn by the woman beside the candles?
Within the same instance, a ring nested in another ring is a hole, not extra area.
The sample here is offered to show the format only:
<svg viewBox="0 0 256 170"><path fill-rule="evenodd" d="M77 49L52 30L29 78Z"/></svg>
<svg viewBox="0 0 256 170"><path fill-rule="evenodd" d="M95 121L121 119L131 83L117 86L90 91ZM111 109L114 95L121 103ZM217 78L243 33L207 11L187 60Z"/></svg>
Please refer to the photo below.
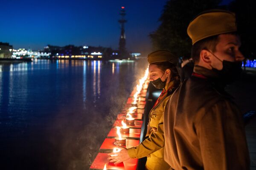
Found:
<svg viewBox="0 0 256 170"><path fill-rule="evenodd" d="M168 62L176 65L178 62L178 58L167 50L157 50L157 51L151 52L148 55L148 63L149 64L157 63L157 62L164 62L164 61L168 61Z"/></svg>

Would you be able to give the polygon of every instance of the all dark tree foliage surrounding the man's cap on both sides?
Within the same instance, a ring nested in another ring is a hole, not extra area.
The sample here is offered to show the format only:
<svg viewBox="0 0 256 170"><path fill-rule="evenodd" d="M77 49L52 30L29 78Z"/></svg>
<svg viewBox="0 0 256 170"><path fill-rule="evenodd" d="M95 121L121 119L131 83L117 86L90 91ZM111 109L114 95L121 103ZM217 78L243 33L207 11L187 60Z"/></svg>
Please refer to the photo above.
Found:
<svg viewBox="0 0 256 170"><path fill-rule="evenodd" d="M190 55L192 42L187 35L189 22L209 9L228 9L236 13L241 51L246 58L256 58L256 0L233 0L219 6L221 0L168 0L159 19L160 26L151 33L153 49L167 49L177 56Z"/></svg>

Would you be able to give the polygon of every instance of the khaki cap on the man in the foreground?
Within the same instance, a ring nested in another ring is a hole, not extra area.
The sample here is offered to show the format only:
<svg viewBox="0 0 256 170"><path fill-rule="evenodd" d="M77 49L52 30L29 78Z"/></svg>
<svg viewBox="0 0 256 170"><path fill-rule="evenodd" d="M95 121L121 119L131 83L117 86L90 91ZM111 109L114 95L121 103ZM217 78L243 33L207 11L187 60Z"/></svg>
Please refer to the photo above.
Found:
<svg viewBox="0 0 256 170"><path fill-rule="evenodd" d="M192 44L214 35L236 32L236 15L225 10L209 10L198 14L187 29Z"/></svg>

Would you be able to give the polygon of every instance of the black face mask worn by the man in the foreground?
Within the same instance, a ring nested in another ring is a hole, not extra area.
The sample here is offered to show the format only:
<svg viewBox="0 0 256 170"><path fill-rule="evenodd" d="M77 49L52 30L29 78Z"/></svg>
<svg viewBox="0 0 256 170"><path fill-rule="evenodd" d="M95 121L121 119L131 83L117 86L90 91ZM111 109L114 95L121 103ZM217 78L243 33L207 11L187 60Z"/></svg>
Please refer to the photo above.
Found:
<svg viewBox="0 0 256 170"><path fill-rule="evenodd" d="M214 54L212 53L212 55L214 55ZM221 61L221 59L219 59L216 55L214 55L214 56L219 61ZM211 66L212 71L217 73L218 78L220 78L220 81L222 81L222 83L224 83L224 84L233 83L242 72L242 69L241 69L242 62L241 61L231 62L231 61L226 61L226 60L223 60L221 62L223 64L223 68L221 70L218 70Z"/></svg>

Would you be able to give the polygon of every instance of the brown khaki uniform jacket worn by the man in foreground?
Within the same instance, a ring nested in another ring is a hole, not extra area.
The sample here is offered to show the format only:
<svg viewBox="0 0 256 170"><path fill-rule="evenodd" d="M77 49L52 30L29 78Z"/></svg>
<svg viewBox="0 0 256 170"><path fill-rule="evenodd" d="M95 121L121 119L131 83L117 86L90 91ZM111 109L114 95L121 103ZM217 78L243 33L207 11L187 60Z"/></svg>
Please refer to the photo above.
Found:
<svg viewBox="0 0 256 170"><path fill-rule="evenodd" d="M215 72L195 73L173 93L164 113L164 159L175 170L247 170L242 114L217 86Z"/></svg>

